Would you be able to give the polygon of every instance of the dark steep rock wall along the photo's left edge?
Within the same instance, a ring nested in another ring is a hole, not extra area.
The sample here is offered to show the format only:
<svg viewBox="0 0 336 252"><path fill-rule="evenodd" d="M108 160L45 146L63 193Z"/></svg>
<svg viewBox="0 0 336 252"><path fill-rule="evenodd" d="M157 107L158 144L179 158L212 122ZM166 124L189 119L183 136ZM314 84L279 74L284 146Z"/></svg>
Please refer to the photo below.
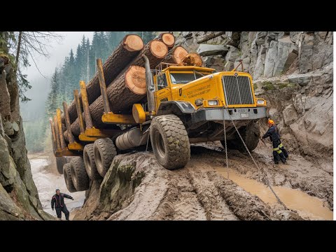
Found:
<svg viewBox="0 0 336 252"><path fill-rule="evenodd" d="M49 219L31 176L13 66L0 55L0 220Z"/></svg>

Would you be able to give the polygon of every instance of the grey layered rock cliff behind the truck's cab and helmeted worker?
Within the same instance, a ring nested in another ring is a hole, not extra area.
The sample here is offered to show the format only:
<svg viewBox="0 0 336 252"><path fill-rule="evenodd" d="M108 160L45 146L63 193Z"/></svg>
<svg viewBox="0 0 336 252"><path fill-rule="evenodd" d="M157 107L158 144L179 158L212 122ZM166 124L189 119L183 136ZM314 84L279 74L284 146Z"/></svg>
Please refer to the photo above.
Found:
<svg viewBox="0 0 336 252"><path fill-rule="evenodd" d="M332 174L332 31L226 31L197 43L212 33L174 34L187 50L207 55L204 65L217 71L242 61L289 150Z"/></svg>

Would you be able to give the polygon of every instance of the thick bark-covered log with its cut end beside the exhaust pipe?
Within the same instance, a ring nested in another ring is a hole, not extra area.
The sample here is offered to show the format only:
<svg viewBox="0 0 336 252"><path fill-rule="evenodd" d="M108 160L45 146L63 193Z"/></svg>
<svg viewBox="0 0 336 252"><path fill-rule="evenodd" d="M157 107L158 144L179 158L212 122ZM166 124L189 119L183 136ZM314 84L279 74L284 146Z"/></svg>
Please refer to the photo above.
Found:
<svg viewBox="0 0 336 252"><path fill-rule="evenodd" d="M125 73L120 74L116 80L107 87L107 97L113 113L120 113L132 108L134 103L146 97L146 75L142 66L130 66ZM94 127L103 129L108 127L102 122L104 104L102 95L98 97L89 107L92 124ZM71 125L72 133L80 134L78 118Z"/></svg>

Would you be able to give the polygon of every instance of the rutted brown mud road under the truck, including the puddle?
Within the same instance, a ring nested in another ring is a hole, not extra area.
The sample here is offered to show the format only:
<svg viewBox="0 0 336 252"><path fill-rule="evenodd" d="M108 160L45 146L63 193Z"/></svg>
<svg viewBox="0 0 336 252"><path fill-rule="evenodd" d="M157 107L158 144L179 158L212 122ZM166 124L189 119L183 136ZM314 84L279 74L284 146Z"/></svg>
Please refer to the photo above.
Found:
<svg viewBox="0 0 336 252"><path fill-rule="evenodd" d="M213 148L214 150L211 150ZM248 156L229 152L230 179L219 144L192 147L183 169L163 169L153 153L118 155L74 219L90 220L331 220L332 175L297 155L272 165L272 153L253 157L267 169L285 210L258 179Z"/></svg>

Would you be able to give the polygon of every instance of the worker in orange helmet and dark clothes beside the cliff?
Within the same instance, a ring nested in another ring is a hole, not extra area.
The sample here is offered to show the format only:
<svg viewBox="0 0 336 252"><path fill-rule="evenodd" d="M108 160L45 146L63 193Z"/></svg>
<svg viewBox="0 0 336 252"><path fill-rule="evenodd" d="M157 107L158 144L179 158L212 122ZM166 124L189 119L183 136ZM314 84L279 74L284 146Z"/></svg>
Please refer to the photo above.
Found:
<svg viewBox="0 0 336 252"><path fill-rule="evenodd" d="M283 147L283 144L281 144L279 130L274 124L273 120L268 120L268 127L269 129L262 137L262 139L269 137L269 139L272 141L274 163L278 165L279 160L281 160L283 164L286 164L286 158L288 158L288 153Z"/></svg>

